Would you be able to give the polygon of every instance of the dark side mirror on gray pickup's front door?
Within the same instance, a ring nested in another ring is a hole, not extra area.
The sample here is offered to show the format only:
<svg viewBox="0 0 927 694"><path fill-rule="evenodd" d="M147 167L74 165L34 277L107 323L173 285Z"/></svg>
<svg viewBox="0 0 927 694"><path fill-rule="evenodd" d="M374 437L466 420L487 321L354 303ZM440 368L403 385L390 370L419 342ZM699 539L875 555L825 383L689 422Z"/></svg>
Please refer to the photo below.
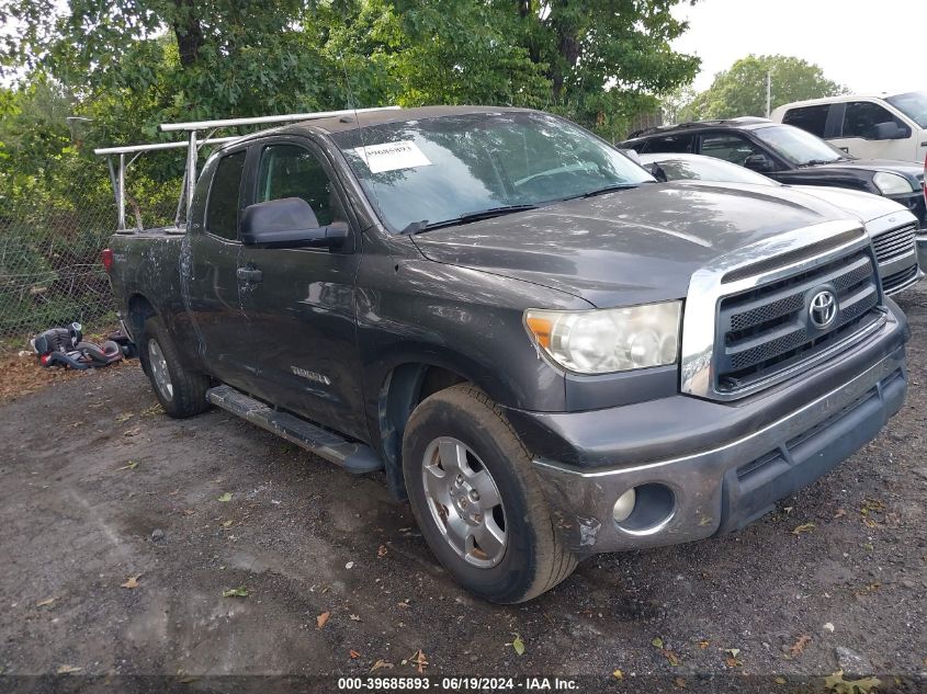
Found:
<svg viewBox="0 0 927 694"><path fill-rule="evenodd" d="M302 197L281 197L248 205L241 215L241 242L258 248L339 248L350 237L348 225L318 226Z"/></svg>

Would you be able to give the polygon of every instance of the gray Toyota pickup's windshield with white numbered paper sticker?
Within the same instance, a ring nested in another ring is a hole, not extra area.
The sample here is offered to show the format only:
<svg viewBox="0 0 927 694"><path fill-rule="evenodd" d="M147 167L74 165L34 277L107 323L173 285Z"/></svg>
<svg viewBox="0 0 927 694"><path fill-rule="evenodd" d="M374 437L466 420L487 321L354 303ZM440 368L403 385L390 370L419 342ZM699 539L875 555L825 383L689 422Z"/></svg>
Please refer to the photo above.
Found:
<svg viewBox="0 0 927 694"><path fill-rule="evenodd" d="M543 113L387 123L339 133L334 140L394 232L654 180L603 140Z"/></svg>

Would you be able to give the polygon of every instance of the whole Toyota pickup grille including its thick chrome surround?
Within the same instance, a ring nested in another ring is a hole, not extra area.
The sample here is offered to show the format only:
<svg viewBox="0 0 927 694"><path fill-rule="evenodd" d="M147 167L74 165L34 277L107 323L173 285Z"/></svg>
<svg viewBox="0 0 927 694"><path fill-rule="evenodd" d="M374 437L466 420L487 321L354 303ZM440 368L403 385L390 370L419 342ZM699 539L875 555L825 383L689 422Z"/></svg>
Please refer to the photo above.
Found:
<svg viewBox="0 0 927 694"><path fill-rule="evenodd" d="M680 391L713 400L746 397L851 349L886 320L872 240L859 221L824 221L759 239L692 273Z"/></svg>

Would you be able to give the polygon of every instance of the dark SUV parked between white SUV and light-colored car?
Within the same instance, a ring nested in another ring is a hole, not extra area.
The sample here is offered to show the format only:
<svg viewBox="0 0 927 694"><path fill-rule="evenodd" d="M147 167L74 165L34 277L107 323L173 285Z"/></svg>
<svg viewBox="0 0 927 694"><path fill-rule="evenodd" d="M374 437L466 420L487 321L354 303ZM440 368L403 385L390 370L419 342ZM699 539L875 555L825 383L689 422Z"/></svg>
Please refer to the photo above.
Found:
<svg viewBox="0 0 927 694"><path fill-rule="evenodd" d="M923 167L857 159L801 128L766 118L682 123L632 133L619 147L643 153L717 157L793 185L835 185L883 195L911 209L927 227Z"/></svg>

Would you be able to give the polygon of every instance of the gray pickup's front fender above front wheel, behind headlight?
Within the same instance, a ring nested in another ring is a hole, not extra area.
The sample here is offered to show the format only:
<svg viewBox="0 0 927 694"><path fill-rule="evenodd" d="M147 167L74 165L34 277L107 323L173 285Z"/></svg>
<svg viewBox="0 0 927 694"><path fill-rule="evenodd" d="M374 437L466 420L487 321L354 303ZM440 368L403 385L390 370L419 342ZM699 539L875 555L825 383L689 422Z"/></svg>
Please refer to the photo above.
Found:
<svg viewBox="0 0 927 694"><path fill-rule="evenodd" d="M427 260L364 265L357 292L358 342L372 418L387 374L407 363L459 374L500 405L565 409L564 375L541 356L522 316L530 307L588 308L583 299Z"/></svg>

